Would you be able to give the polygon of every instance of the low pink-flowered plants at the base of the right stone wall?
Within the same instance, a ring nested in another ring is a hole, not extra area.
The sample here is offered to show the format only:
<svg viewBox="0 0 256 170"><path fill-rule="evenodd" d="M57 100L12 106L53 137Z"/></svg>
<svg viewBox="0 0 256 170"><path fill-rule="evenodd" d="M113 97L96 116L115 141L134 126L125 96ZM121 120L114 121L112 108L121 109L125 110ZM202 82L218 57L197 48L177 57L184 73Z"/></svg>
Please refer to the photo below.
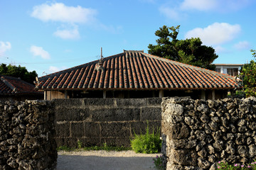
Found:
<svg viewBox="0 0 256 170"><path fill-rule="evenodd" d="M234 164L230 165L226 162L218 162L217 169L220 170L256 170L256 161L248 165Z"/></svg>

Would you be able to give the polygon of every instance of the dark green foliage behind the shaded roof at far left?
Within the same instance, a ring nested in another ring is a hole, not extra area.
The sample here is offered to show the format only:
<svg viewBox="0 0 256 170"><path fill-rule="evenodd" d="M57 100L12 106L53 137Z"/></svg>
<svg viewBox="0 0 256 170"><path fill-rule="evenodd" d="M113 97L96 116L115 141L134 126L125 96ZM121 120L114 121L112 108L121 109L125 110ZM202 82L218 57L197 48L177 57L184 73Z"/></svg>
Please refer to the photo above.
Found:
<svg viewBox="0 0 256 170"><path fill-rule="evenodd" d="M16 67L15 65L9 64L8 66L6 64L0 65L0 75L10 76L10 77L20 77L23 81L27 81L28 83L33 84L33 81L36 80L36 77L38 74L36 71L28 72L26 67L21 67L18 65Z"/></svg>

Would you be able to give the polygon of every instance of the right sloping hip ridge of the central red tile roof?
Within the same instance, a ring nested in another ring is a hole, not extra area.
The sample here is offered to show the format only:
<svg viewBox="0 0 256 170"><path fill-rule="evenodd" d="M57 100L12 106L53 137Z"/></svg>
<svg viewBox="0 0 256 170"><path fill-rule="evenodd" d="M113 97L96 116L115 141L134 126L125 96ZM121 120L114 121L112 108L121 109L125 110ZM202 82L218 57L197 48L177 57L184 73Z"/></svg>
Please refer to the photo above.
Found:
<svg viewBox="0 0 256 170"><path fill-rule="evenodd" d="M185 64L183 62L177 62L177 61L174 61L174 60L169 60L169 59L166 59L164 57L158 57L156 55L150 55L150 54L147 54L147 53L144 53L144 55L146 55L146 57L154 57L157 60L161 60L161 61L169 62L169 63L173 63L173 64L178 64L180 66L188 67L190 69L197 69L198 71L201 71L201 72L207 72L207 73L218 75L218 76L225 77L225 78L228 78L228 79L235 79L235 77L233 77L233 76L230 76L228 74L215 72L215 71L210 70L210 69L205 69L205 68L202 68L202 67L193 66L191 64Z"/></svg>

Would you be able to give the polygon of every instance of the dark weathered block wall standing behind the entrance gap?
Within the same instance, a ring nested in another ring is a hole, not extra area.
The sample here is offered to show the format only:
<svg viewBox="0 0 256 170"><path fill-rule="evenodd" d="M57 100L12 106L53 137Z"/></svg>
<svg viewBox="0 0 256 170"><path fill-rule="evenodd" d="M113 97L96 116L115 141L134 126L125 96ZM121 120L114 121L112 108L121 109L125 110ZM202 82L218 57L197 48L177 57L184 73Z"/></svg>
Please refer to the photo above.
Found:
<svg viewBox="0 0 256 170"><path fill-rule="evenodd" d="M130 146L134 132L161 127L161 98L55 99L57 146Z"/></svg>

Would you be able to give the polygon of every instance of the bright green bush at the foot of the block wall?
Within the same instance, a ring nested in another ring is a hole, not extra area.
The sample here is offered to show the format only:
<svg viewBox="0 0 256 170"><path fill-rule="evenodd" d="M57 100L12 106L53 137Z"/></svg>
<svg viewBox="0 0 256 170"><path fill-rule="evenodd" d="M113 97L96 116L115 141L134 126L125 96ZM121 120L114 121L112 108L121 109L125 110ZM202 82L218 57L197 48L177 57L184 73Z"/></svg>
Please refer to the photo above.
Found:
<svg viewBox="0 0 256 170"><path fill-rule="evenodd" d="M131 140L132 149L136 153L153 154L161 151L160 130L149 134L149 123L146 127L146 134L137 135Z"/></svg>

